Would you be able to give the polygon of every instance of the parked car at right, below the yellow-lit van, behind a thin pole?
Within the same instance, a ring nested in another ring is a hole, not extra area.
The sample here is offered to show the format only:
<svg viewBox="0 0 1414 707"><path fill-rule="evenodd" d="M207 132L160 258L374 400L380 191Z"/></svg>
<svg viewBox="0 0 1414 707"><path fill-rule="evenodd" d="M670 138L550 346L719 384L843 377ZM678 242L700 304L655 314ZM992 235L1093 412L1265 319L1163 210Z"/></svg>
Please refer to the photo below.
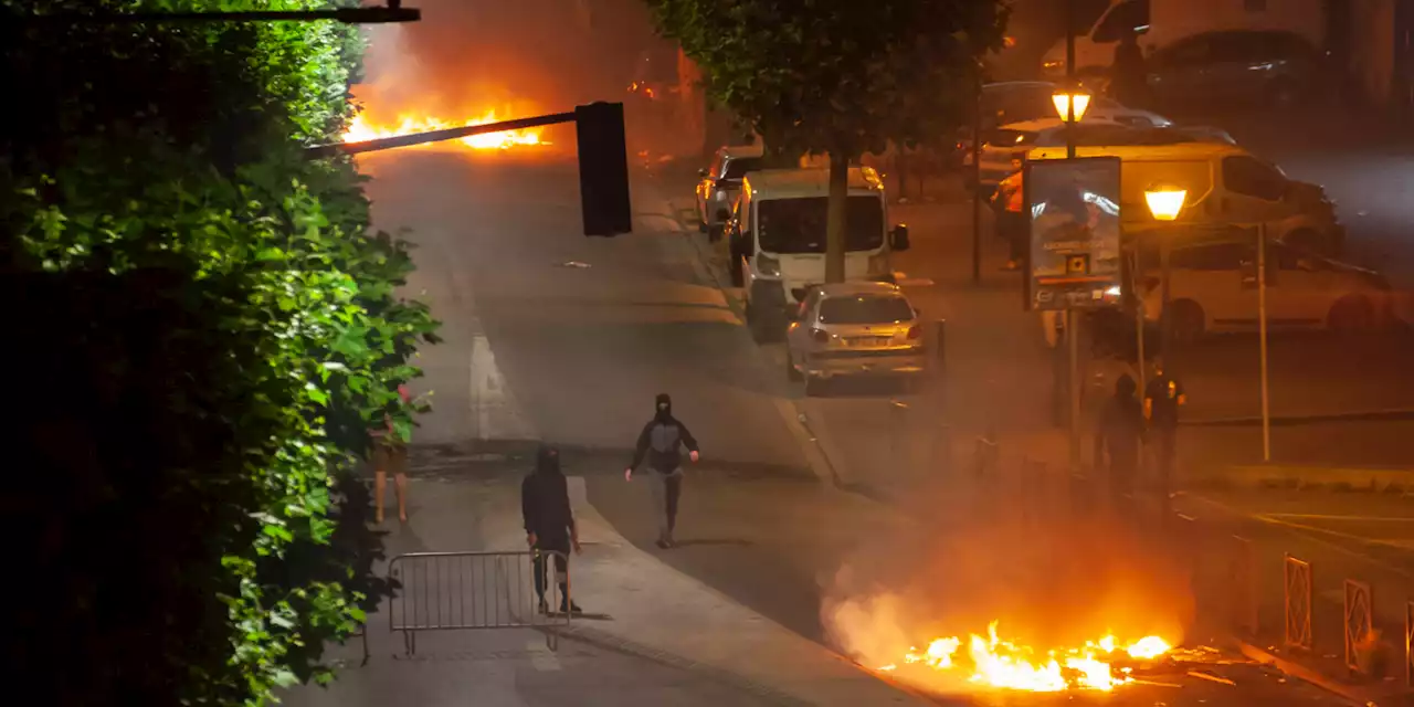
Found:
<svg viewBox="0 0 1414 707"><path fill-rule="evenodd" d="M1267 243L1267 327L1381 331L1398 324L1390 283L1373 270L1280 242ZM1144 315L1162 312L1158 256L1145 249L1140 293ZM1251 238L1175 247L1171 256L1174 337L1257 331L1257 247Z"/></svg>

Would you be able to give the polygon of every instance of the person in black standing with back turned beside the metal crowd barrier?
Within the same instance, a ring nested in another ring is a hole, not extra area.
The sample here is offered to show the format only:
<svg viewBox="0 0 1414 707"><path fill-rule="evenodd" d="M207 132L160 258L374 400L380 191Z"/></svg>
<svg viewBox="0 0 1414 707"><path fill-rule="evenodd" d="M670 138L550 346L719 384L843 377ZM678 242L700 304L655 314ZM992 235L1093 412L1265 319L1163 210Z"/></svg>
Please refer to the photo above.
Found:
<svg viewBox="0 0 1414 707"><path fill-rule="evenodd" d="M534 472L520 482L520 515L526 525L526 544L540 550L534 557L534 592L540 597L540 612L549 614L544 601L547 588L546 556L553 553L554 571L560 580L560 612L578 612L570 601L570 547L580 551L580 532L570 510L570 489L560 471L560 450L542 445L536 455Z"/></svg>

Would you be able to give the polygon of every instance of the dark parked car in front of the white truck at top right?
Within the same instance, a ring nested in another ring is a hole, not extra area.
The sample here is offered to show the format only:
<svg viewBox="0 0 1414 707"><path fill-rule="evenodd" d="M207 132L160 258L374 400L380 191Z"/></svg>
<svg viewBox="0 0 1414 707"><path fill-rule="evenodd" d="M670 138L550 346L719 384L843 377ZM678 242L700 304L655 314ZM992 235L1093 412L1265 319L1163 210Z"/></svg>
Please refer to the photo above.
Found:
<svg viewBox="0 0 1414 707"><path fill-rule="evenodd" d="M1290 107L1329 85L1325 54L1295 33L1196 34L1148 61L1150 90L1175 109L1260 103Z"/></svg>

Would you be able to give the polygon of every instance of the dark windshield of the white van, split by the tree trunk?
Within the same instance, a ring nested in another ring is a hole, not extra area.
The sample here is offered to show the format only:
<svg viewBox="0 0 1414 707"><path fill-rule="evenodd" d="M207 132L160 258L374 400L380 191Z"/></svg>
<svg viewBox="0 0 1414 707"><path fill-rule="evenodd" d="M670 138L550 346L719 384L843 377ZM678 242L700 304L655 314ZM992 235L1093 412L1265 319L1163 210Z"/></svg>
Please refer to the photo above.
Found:
<svg viewBox="0 0 1414 707"><path fill-rule="evenodd" d="M768 253L824 253L824 197L762 201L756 206L756 238ZM884 205L878 197L850 197L846 250L884 246Z"/></svg>

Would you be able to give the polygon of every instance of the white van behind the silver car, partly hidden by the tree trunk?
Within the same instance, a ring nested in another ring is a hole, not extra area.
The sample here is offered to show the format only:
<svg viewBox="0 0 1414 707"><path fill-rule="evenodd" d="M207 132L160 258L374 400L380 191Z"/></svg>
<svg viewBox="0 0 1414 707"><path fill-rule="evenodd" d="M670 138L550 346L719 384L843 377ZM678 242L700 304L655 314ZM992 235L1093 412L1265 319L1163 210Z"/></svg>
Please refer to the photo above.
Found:
<svg viewBox="0 0 1414 707"><path fill-rule="evenodd" d="M908 226L888 228L878 173L851 167L848 184L844 277L894 281L889 253L908 249ZM829 170L762 170L742 180L727 233L732 284L745 288L756 341L783 332L809 288L824 284L829 194Z"/></svg>

